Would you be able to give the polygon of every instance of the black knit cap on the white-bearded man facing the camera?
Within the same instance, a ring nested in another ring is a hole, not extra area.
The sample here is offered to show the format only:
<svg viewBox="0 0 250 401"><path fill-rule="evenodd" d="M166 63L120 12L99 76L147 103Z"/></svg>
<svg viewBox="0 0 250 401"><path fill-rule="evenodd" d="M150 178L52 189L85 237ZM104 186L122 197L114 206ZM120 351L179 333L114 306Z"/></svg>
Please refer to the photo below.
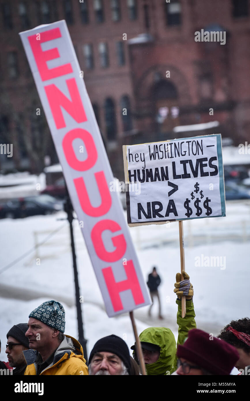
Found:
<svg viewBox="0 0 250 401"><path fill-rule="evenodd" d="M100 338L100 340L98 340L93 346L93 349L89 355L89 364L91 363L91 359L97 352L112 352L113 354L119 356L130 375L131 361L129 348L121 337L118 337L115 334L111 334L110 336Z"/></svg>

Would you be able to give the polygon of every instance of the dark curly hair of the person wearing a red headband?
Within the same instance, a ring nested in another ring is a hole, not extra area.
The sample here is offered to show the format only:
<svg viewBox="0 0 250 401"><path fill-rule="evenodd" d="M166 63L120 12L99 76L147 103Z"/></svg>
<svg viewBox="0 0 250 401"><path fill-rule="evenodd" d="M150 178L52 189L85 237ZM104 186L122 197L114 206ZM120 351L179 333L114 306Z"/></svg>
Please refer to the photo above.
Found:
<svg viewBox="0 0 250 401"><path fill-rule="evenodd" d="M220 334L217 336L222 340L228 342L235 346L236 348L242 348L245 352L250 352L250 346L245 344L242 340L237 338L233 333L230 331L226 331L228 327L232 327L237 331L241 331L242 333L246 333L250 335L250 319L243 318L239 320L232 320L223 330L221 330Z"/></svg>

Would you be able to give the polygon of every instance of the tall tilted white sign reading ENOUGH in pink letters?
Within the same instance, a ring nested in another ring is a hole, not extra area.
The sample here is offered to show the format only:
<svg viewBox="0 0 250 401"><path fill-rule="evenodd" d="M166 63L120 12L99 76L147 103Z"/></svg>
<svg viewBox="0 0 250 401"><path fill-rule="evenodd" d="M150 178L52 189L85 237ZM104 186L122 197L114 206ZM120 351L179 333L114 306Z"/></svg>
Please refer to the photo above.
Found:
<svg viewBox="0 0 250 401"><path fill-rule="evenodd" d="M65 21L21 32L71 201L115 316L151 304ZM35 111L34 111L35 112Z"/></svg>

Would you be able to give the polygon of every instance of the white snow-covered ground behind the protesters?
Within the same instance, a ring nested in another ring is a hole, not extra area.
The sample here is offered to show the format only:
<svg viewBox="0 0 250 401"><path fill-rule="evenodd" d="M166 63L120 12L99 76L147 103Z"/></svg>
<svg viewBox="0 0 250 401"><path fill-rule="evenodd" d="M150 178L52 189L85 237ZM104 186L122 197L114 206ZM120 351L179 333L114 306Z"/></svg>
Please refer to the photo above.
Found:
<svg viewBox="0 0 250 401"><path fill-rule="evenodd" d="M250 203L229 202L226 214L222 218L183 222L185 266L194 286L196 323L214 335L231 320L249 316ZM65 332L77 338L69 227L67 221L58 220L63 217L65 213L60 212L52 216L0 221L0 269L34 247L35 231L40 242L62 227L36 252L0 274L1 360L6 360L5 341L9 328L27 322L28 314L48 299L59 300L65 306ZM99 338L112 333L124 338L131 346L134 339L129 316L107 317L77 220L74 230L88 352ZM180 270L178 223L135 227L130 232L145 279L153 265L158 268L164 316L161 324L170 327L177 336L173 284L175 274ZM216 257L220 259L212 259ZM215 260L220 263L212 266ZM38 294L34 296L34 292ZM157 313L156 305L154 312ZM147 318L147 308L136 310L135 317L138 332L149 324L156 324Z"/></svg>

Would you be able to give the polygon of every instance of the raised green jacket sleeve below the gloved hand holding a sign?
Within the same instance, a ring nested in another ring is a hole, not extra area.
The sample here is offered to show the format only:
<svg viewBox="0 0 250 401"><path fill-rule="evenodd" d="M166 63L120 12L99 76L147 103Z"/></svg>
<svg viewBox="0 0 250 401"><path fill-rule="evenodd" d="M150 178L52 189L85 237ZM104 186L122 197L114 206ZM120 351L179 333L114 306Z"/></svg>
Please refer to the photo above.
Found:
<svg viewBox="0 0 250 401"><path fill-rule="evenodd" d="M183 344L185 338L188 336L189 330L192 328L196 328L195 313L194 313L194 304L193 299L186 301L186 315L185 318L181 317L181 300L176 300L176 304L178 305L177 311L177 324L178 328L178 344Z"/></svg>

